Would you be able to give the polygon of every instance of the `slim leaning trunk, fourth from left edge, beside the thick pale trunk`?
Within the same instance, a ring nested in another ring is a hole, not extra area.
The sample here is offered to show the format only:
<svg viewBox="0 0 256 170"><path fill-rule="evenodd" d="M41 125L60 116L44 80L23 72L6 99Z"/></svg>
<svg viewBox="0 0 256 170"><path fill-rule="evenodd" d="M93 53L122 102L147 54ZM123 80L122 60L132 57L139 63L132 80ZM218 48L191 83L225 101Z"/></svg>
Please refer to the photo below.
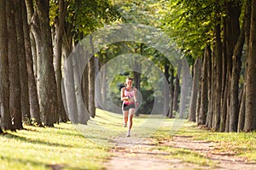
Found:
<svg viewBox="0 0 256 170"><path fill-rule="evenodd" d="M27 24L26 16L26 4L22 3L22 18L25 20L23 22L24 31L24 42L26 51L26 69L27 69L27 80L28 80L28 94L29 94L29 105L30 105L30 115L32 117L32 124L37 126L42 126L40 118L40 110L38 103L38 89L36 80L34 77L33 61L32 61L32 46L30 42L30 31Z"/></svg>

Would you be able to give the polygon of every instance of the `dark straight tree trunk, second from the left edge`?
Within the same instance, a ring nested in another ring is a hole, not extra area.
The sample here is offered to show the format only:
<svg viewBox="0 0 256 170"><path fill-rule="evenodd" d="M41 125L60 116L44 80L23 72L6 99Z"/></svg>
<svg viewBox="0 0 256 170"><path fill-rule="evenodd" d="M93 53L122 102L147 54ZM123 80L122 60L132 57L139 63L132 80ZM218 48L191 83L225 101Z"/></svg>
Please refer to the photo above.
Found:
<svg viewBox="0 0 256 170"><path fill-rule="evenodd" d="M15 129L22 129L20 106L20 65L15 25L15 0L6 2L9 35L9 110Z"/></svg>

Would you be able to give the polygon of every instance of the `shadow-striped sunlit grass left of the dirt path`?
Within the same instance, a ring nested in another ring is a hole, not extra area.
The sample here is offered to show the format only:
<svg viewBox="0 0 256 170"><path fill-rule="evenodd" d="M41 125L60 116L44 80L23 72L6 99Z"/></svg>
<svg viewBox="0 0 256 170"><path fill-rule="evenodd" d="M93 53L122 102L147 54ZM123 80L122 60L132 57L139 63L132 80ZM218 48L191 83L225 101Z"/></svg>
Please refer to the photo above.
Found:
<svg viewBox="0 0 256 170"><path fill-rule="evenodd" d="M85 139L73 125L26 127L0 136L0 169L99 169L108 148Z"/></svg>

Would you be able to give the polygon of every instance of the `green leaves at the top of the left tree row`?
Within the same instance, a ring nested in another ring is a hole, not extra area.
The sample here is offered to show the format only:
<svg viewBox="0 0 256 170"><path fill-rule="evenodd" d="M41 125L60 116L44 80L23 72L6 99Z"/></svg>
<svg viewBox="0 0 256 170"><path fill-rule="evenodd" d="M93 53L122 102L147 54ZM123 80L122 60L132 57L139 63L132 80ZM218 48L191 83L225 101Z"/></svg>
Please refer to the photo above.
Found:
<svg viewBox="0 0 256 170"><path fill-rule="evenodd" d="M67 24L72 26L75 40L80 40L92 31L119 20L120 15L106 0L69 0L67 3ZM50 25L55 24L58 17L58 1L50 1Z"/></svg>

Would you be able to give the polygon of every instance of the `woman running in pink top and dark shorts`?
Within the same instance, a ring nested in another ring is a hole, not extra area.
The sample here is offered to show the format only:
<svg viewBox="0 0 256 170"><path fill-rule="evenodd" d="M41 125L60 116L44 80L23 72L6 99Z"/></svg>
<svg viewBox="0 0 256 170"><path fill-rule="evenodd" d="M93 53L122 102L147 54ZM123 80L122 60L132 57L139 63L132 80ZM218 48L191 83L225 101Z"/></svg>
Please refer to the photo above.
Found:
<svg viewBox="0 0 256 170"><path fill-rule="evenodd" d="M135 105L137 103L137 88L132 87L132 78L126 78L125 88L121 89L121 100L123 101L122 111L124 119L124 127L127 126L128 118L128 131L127 137L130 137L130 131L132 127L132 117L135 113Z"/></svg>

